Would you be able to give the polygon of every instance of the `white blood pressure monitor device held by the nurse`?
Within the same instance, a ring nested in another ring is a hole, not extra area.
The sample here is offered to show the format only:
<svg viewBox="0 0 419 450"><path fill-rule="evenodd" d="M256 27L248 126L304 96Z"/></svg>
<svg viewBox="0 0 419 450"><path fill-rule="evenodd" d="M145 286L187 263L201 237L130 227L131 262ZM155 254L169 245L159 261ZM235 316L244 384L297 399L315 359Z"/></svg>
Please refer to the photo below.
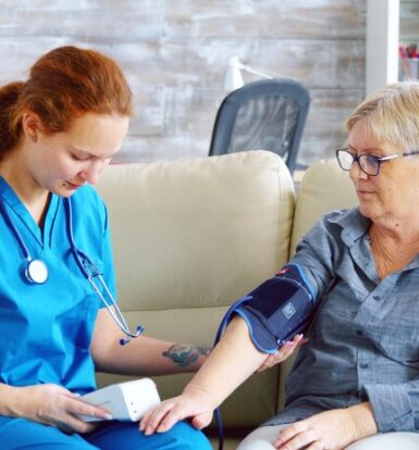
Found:
<svg viewBox="0 0 419 450"><path fill-rule="evenodd" d="M103 408L119 421L139 421L151 408L160 403L156 384L150 378L119 383L82 396L79 400ZM81 415L85 422L102 421L99 417Z"/></svg>

